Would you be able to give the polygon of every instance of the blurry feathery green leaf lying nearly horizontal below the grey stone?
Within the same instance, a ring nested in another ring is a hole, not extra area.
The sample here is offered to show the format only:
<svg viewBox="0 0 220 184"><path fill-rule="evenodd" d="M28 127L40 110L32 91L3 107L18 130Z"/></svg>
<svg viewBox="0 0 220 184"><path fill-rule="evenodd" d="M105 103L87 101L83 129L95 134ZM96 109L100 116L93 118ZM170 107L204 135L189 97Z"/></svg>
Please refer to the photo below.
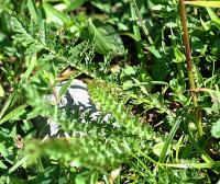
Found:
<svg viewBox="0 0 220 184"><path fill-rule="evenodd" d="M29 140L25 142L24 156L28 164L33 164L41 156L68 166L78 165L96 170L118 166L125 159L125 143L120 139L98 136L75 136L72 138ZM130 156L131 157L131 156Z"/></svg>

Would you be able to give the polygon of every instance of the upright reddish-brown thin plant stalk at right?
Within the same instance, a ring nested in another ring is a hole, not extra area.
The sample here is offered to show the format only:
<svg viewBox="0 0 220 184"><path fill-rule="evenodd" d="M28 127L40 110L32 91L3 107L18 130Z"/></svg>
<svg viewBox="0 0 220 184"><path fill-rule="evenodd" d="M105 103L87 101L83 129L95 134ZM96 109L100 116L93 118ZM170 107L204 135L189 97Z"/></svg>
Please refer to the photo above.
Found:
<svg viewBox="0 0 220 184"><path fill-rule="evenodd" d="M185 45L185 54L186 54L186 62L187 62L187 73L189 79L189 88L196 89L195 77L194 77L194 66L191 61L191 49L189 44L189 33L187 26L187 16L186 16L186 8L185 0L179 0L179 14L182 19L182 26L184 32L184 45ZM198 96L196 92L191 92L191 97L195 106L195 120L198 129L198 136L201 137L204 134L202 124L201 124L201 112L198 105Z"/></svg>

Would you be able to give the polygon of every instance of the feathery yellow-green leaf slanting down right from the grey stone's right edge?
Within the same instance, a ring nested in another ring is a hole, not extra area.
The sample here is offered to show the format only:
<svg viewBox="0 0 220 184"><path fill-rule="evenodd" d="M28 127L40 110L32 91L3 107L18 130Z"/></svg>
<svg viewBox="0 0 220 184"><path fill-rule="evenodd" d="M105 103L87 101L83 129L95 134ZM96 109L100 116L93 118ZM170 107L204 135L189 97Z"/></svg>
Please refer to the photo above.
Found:
<svg viewBox="0 0 220 184"><path fill-rule="evenodd" d="M133 135L140 139L152 140L155 134L146 124L142 124L138 116L131 115L132 112L125 110L123 102L118 102L117 94L112 94L111 88L98 81L90 81L88 84L89 93L95 103L99 104L101 111L111 113L118 124L119 128L124 129L128 135Z"/></svg>

